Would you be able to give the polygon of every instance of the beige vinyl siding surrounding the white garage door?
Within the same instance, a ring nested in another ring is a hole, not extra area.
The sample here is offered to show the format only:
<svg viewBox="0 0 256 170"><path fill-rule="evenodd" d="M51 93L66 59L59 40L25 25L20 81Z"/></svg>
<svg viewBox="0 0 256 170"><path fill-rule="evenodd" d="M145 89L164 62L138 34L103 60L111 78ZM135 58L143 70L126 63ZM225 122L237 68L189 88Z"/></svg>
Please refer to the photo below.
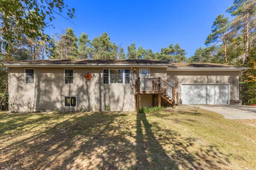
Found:
<svg viewBox="0 0 256 170"><path fill-rule="evenodd" d="M239 100L238 71L167 71L167 81L174 82L179 93L181 84L230 84L230 100Z"/></svg>

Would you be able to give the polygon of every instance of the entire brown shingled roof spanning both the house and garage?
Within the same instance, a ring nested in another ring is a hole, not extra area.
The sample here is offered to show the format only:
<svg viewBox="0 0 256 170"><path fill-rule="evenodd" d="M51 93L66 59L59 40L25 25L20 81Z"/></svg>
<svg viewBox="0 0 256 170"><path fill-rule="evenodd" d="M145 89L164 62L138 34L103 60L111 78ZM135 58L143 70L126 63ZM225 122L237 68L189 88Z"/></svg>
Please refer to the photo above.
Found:
<svg viewBox="0 0 256 170"><path fill-rule="evenodd" d="M212 70L212 69L235 69L235 70L245 70L246 67L232 66L226 64L216 64L216 63L165 63L157 60L80 60L80 59L65 59L65 60L27 60L27 61L16 61L4 63L7 67L113 67L113 66L135 66L135 67L163 67L171 70Z"/></svg>

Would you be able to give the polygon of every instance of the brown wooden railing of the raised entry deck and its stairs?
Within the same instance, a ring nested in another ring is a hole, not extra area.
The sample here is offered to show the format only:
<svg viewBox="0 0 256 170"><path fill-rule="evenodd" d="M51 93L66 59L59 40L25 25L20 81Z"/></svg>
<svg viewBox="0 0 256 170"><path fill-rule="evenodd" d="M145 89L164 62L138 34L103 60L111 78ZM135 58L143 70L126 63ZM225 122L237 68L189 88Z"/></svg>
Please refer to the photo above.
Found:
<svg viewBox="0 0 256 170"><path fill-rule="evenodd" d="M174 88L159 78L138 78L135 82L136 91L161 91L169 99L174 100Z"/></svg>

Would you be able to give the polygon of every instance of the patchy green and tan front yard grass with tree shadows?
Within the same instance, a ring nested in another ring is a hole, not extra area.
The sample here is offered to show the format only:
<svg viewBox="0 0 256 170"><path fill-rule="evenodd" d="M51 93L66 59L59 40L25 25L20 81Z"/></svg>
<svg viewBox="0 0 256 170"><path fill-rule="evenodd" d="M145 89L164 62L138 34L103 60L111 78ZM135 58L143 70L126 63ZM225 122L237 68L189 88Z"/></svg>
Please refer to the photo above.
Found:
<svg viewBox="0 0 256 170"><path fill-rule="evenodd" d="M0 170L256 169L256 120L158 113L0 113Z"/></svg>

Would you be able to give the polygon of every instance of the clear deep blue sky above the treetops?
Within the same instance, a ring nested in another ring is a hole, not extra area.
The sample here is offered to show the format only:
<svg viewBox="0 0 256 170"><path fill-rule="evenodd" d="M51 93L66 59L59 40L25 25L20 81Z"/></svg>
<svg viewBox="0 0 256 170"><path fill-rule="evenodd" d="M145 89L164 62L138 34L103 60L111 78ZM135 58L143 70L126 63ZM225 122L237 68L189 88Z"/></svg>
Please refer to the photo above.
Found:
<svg viewBox="0 0 256 170"><path fill-rule="evenodd" d="M226 13L234 0L64 0L69 8L75 8L76 19L70 21L55 16L55 29L45 29L52 35L71 27L77 37L87 33L92 41L103 32L110 35L110 41L122 44L124 51L132 42L136 48L152 49L154 53L162 47L178 43L194 55L198 47L205 47L204 41L211 33L216 16ZM65 13L63 13L65 14Z"/></svg>

